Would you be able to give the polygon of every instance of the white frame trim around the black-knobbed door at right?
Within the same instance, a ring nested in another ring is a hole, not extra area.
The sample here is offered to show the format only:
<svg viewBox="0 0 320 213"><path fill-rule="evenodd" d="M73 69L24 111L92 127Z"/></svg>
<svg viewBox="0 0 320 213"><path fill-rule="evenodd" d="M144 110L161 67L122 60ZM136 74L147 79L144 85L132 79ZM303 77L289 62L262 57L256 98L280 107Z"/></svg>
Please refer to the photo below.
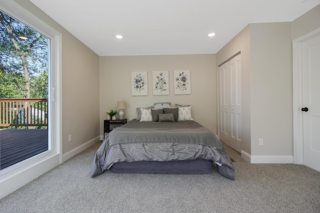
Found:
<svg viewBox="0 0 320 213"><path fill-rule="evenodd" d="M317 35L320 28L292 40L293 162L296 164L303 164L302 43Z"/></svg>

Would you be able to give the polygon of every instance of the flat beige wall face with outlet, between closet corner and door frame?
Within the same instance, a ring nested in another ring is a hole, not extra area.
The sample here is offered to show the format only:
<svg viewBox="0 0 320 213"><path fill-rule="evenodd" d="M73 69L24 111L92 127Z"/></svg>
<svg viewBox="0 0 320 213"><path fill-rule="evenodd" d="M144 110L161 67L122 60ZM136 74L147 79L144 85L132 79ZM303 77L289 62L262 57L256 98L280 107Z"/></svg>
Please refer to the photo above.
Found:
<svg viewBox="0 0 320 213"><path fill-rule="evenodd" d="M293 155L291 40L291 22L250 24L251 155Z"/></svg>

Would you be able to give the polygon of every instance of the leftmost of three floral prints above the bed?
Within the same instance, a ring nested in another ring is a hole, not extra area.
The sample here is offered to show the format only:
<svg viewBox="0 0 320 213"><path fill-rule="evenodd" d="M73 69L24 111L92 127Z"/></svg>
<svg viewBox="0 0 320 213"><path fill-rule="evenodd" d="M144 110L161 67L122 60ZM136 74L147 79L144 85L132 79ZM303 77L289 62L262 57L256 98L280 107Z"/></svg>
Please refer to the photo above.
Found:
<svg viewBox="0 0 320 213"><path fill-rule="evenodd" d="M148 75L146 71L131 72L132 95L148 95Z"/></svg>

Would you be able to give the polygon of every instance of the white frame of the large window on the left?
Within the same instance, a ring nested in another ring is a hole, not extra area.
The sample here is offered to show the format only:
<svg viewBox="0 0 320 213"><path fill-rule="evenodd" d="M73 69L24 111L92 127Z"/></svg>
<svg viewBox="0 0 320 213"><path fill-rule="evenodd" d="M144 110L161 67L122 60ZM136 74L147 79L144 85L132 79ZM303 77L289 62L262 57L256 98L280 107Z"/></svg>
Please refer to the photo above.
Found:
<svg viewBox="0 0 320 213"><path fill-rule="evenodd" d="M49 131L51 149L18 162L0 171L0 198L33 180L54 166L62 163L62 103L61 103L61 33L46 24L40 18L23 8L13 0L0 0L0 10L13 18L30 26L39 33L50 38L49 66L51 74L48 77L51 104L48 107ZM54 116L51 116L54 114Z"/></svg>

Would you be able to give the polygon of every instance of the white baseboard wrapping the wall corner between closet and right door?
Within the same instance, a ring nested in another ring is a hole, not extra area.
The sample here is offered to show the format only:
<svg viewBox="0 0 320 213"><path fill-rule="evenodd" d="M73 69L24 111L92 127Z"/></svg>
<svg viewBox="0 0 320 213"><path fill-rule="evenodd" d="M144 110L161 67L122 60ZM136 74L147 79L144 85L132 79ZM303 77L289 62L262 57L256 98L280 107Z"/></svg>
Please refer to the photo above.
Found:
<svg viewBox="0 0 320 213"><path fill-rule="evenodd" d="M250 163L293 163L292 155L250 155L241 150L241 157Z"/></svg>

